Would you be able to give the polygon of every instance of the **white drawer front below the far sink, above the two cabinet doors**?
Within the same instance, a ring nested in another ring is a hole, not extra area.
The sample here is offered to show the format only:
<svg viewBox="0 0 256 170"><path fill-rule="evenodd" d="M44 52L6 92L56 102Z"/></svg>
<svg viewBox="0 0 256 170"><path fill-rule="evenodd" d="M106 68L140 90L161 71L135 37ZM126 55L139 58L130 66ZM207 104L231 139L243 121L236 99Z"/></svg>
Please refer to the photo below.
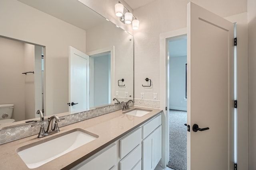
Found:
<svg viewBox="0 0 256 170"><path fill-rule="evenodd" d="M145 139L159 125L161 125L161 114L142 125L142 139Z"/></svg>

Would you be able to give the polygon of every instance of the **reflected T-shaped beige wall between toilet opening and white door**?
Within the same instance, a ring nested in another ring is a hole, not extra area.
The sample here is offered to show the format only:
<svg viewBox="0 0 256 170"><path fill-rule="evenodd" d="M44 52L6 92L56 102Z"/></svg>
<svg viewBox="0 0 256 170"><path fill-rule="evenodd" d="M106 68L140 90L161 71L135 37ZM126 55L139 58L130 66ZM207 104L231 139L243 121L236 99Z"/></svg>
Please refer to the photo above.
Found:
<svg viewBox="0 0 256 170"><path fill-rule="evenodd" d="M16 0L0 1L0 21L0 35L46 47L45 113L68 111L68 46L85 52L86 31Z"/></svg>

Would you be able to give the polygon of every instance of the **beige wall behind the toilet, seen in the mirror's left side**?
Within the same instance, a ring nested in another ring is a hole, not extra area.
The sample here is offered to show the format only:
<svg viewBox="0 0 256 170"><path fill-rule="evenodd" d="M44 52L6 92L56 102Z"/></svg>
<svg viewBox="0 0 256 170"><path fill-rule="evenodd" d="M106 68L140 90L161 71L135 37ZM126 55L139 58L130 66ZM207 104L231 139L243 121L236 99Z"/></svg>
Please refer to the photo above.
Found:
<svg viewBox="0 0 256 170"><path fill-rule="evenodd" d="M24 43L0 37L0 68L0 104L14 104L12 118L24 120Z"/></svg>

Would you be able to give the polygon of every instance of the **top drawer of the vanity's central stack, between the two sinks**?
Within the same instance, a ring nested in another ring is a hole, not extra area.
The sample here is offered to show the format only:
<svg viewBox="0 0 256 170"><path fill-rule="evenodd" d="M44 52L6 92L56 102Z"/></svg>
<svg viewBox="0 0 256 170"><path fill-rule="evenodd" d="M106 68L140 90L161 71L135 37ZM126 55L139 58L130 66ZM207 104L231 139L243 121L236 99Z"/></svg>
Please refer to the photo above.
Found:
<svg viewBox="0 0 256 170"><path fill-rule="evenodd" d="M122 159L129 152L131 152L136 146L138 146L141 139L142 129L139 127L132 133L129 133L119 141L119 157Z"/></svg>

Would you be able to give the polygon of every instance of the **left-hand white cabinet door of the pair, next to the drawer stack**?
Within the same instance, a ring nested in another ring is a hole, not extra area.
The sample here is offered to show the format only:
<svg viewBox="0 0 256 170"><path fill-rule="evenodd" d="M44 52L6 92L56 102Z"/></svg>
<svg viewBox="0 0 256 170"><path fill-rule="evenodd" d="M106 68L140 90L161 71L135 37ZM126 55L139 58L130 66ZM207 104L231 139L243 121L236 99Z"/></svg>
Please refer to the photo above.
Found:
<svg viewBox="0 0 256 170"><path fill-rule="evenodd" d="M154 170L153 133L142 141L142 170Z"/></svg>

